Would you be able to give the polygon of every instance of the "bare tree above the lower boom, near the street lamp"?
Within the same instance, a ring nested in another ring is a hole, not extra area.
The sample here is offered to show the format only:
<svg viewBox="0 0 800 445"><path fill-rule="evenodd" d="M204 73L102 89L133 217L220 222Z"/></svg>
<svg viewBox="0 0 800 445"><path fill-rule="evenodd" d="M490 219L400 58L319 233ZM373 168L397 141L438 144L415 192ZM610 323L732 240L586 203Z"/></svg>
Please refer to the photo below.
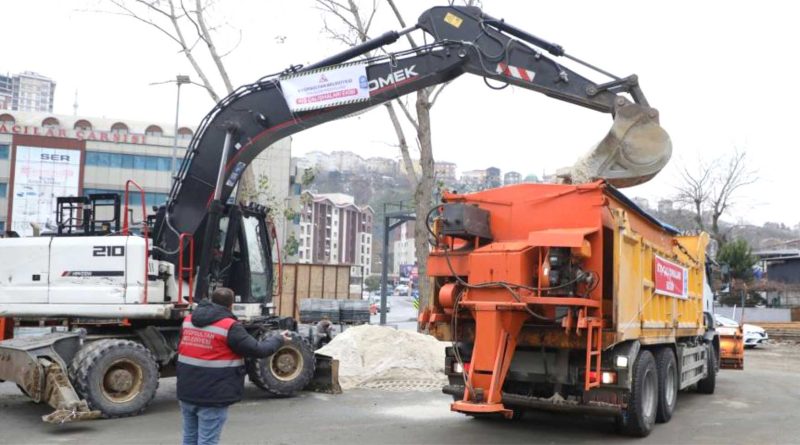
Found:
<svg viewBox="0 0 800 445"><path fill-rule="evenodd" d="M224 58L230 54L238 43L230 50L220 53L214 43L215 26L209 26L209 14L212 1L195 0L109 0L114 5L111 14L130 17L139 21L164 35L168 40L176 44L179 52L186 56L192 69L200 77L201 83L196 83L203 87L211 100L219 102L221 95L214 88L206 69L198 61L195 54L196 46L202 42L211 58L217 74L225 87L225 94L233 92L228 70L225 67ZM187 6L189 3L189 6ZM239 32L241 41L241 31ZM175 129L177 131L177 128ZM252 169L248 168L239 181L237 201L254 199L257 196L255 178Z"/></svg>

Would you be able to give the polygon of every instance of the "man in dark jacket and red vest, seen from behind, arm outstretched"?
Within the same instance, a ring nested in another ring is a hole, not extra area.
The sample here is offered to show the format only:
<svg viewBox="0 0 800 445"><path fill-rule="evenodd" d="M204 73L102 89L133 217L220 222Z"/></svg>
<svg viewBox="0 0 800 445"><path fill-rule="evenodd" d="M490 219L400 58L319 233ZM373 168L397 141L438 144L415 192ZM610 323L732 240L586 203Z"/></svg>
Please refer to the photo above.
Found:
<svg viewBox="0 0 800 445"><path fill-rule="evenodd" d="M269 357L291 340L288 331L256 340L232 306L233 291L219 288L183 321L177 374L184 445L218 443L228 406L242 399L244 358Z"/></svg>

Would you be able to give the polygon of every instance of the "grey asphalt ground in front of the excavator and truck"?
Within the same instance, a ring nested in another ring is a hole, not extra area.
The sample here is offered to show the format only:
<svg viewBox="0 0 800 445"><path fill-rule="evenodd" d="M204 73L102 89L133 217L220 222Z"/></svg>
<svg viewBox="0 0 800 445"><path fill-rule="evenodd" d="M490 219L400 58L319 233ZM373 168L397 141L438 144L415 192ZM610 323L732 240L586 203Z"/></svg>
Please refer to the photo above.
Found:
<svg viewBox="0 0 800 445"><path fill-rule="evenodd" d="M747 370L723 371L712 396L681 394L672 421L642 444L772 444L800 442L800 347L747 352ZM162 380L156 400L139 417L52 426L39 422L46 406L0 384L0 443L179 443L174 379ZM522 421L475 420L448 411L441 394L358 390L339 396L302 394L267 399L248 387L231 409L224 443L478 444L632 443L603 418L529 413Z"/></svg>

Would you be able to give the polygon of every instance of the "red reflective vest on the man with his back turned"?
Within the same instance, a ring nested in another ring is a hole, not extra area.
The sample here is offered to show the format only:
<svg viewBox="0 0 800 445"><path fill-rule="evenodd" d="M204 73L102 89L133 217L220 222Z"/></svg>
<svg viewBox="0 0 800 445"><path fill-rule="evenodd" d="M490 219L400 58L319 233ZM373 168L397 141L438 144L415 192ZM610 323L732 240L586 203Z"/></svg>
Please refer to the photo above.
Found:
<svg viewBox="0 0 800 445"><path fill-rule="evenodd" d="M178 362L201 368L237 368L244 359L228 346L228 330L236 323L233 318L223 318L208 326L192 324L192 316L183 320L181 342L178 345Z"/></svg>

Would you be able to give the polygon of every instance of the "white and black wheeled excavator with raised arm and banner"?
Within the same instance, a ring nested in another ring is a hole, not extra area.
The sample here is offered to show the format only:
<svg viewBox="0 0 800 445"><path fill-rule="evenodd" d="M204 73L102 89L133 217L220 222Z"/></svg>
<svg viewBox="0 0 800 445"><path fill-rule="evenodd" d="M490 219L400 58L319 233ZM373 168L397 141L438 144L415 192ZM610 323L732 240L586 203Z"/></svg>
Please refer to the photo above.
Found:
<svg viewBox="0 0 800 445"><path fill-rule="evenodd" d="M392 51L411 32L425 33L429 43ZM128 181L122 198L60 198L57 233L0 239L0 317L66 328L0 342L0 379L52 406L48 422L130 416L153 399L159 376L173 372L181 321L211 289L235 291L234 312L254 336L295 328L293 319L272 313L269 209L229 200L243 171L279 139L465 73L613 117L601 142L560 172L564 182L631 186L669 160L669 136L635 75L614 76L479 8L434 7L411 27L291 66L221 100L201 121L166 204L144 221L128 218L130 194L144 193ZM21 257L28 260L10 260ZM321 369L327 377L315 378ZM247 371L278 395L335 380L330 359L315 357L299 338L248 361Z"/></svg>

